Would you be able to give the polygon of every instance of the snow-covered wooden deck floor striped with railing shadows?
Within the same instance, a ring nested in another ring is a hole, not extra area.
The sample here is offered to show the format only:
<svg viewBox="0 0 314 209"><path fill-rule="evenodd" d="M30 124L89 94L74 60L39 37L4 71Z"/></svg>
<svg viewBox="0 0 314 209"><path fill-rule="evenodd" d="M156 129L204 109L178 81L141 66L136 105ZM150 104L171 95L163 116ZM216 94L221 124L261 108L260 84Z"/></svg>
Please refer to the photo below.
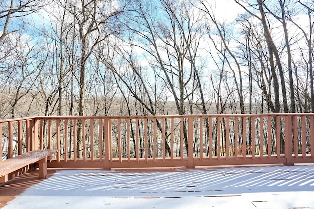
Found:
<svg viewBox="0 0 314 209"><path fill-rule="evenodd" d="M26 173L0 186L2 208L314 209L314 165L50 170L49 175L39 180Z"/></svg>

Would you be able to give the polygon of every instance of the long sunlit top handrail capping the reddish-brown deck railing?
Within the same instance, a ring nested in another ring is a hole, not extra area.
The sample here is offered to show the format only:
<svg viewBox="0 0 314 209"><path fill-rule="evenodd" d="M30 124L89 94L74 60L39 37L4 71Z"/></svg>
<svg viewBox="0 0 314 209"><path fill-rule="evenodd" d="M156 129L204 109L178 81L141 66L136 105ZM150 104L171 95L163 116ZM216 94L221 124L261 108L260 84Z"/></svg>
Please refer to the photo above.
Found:
<svg viewBox="0 0 314 209"><path fill-rule="evenodd" d="M206 117L265 117L265 116L314 116L314 113L260 113L260 114L195 114L195 115L157 115L157 116L34 116L0 120L0 123L17 122L32 119L143 119L143 118L206 118Z"/></svg>

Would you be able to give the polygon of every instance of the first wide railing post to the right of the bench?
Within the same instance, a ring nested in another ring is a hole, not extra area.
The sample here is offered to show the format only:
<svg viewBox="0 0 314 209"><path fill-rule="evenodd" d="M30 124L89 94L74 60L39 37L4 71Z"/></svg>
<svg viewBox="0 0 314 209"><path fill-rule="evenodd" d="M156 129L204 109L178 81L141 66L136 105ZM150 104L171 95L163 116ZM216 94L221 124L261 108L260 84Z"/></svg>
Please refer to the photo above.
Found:
<svg viewBox="0 0 314 209"><path fill-rule="evenodd" d="M105 117L104 119L104 140L105 140L105 162L104 162L104 169L105 170L111 170L111 128L110 128L110 120L109 118Z"/></svg>

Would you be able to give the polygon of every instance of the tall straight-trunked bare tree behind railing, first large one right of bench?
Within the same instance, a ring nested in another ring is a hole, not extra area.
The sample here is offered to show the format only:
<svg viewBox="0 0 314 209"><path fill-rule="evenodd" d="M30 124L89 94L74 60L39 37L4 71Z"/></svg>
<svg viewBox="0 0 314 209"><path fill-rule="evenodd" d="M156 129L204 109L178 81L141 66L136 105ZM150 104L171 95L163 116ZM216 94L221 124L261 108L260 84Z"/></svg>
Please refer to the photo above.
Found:
<svg viewBox="0 0 314 209"><path fill-rule="evenodd" d="M122 5L123 6L123 5ZM80 39L79 59L79 116L84 116L85 109L85 79L86 64L94 48L116 31L113 19L123 11L119 5L111 0L81 0L69 3L68 12L75 18L78 24ZM109 24L111 26L109 26ZM77 156L82 156L82 127L78 123Z"/></svg>

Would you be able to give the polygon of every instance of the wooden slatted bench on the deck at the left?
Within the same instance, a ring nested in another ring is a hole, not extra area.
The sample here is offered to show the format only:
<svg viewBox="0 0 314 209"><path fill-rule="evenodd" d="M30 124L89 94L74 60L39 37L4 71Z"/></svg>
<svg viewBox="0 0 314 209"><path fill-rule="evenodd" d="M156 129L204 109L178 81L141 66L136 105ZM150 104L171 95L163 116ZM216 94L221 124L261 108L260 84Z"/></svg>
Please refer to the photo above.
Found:
<svg viewBox="0 0 314 209"><path fill-rule="evenodd" d="M33 150L14 158L0 161L0 183L8 181L8 174L36 162L39 164L39 178L45 179L47 176L47 159L50 159L52 154L57 152L58 150L56 149Z"/></svg>

